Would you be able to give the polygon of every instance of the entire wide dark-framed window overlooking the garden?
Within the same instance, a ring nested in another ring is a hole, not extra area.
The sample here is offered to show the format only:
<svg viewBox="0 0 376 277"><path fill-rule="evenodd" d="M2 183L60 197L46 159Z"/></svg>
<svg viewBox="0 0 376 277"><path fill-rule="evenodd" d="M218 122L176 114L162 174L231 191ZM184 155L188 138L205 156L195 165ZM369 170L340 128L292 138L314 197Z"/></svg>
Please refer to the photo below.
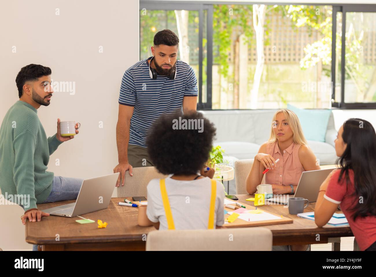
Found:
<svg viewBox="0 0 376 277"><path fill-rule="evenodd" d="M199 109L376 108L374 12L140 1L140 59L151 56L156 32L173 30L178 59L196 72Z"/></svg>

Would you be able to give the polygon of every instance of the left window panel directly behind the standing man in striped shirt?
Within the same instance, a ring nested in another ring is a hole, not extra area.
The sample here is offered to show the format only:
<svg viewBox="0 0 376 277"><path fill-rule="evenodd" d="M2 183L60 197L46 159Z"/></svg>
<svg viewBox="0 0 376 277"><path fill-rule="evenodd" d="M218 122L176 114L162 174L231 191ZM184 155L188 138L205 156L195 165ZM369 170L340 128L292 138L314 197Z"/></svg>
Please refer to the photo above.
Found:
<svg viewBox="0 0 376 277"><path fill-rule="evenodd" d="M161 9L163 7L163 9ZM208 36L208 21L212 6L203 4L140 2L140 59L152 56L154 35L170 29L179 37L177 59L194 69L197 77L199 97L197 108L210 108L212 36ZM179 69L178 69L179 70Z"/></svg>

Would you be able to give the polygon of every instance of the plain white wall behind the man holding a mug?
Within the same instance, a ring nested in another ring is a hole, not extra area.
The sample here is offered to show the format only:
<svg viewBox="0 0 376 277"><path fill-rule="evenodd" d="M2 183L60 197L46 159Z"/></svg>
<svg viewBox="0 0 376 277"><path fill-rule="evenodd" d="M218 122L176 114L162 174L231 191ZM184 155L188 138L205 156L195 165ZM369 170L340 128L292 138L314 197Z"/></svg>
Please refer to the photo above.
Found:
<svg viewBox="0 0 376 277"><path fill-rule="evenodd" d="M49 171L80 178L112 173L121 78L139 60L138 0L12 0L1 5L0 122L18 100L15 78L21 67L48 66L53 81L76 82L76 92L55 92L51 104L38 109L47 136L56 133L58 117L82 123L79 135L50 157Z"/></svg>

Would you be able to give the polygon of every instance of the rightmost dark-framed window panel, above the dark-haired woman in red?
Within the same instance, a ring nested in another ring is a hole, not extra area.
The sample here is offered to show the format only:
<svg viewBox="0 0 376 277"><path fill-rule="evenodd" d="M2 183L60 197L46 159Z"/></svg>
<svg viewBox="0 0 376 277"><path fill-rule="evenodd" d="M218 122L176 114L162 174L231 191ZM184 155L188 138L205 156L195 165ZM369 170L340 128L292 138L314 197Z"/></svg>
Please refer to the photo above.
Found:
<svg viewBox="0 0 376 277"><path fill-rule="evenodd" d="M332 106L376 108L376 5L342 6L333 17L337 66L332 68Z"/></svg>

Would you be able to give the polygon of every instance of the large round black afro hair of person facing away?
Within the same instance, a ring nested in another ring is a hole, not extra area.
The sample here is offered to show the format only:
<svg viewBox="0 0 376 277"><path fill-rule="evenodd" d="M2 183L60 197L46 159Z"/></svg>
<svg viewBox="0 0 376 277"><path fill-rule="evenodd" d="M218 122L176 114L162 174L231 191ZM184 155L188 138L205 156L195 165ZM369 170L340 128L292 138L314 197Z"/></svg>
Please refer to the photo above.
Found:
<svg viewBox="0 0 376 277"><path fill-rule="evenodd" d="M200 120L198 129L174 128L176 120ZM175 122L175 123L174 123ZM202 113L181 111L164 114L157 119L146 139L149 158L162 174L190 175L201 170L209 159L215 127Z"/></svg>

